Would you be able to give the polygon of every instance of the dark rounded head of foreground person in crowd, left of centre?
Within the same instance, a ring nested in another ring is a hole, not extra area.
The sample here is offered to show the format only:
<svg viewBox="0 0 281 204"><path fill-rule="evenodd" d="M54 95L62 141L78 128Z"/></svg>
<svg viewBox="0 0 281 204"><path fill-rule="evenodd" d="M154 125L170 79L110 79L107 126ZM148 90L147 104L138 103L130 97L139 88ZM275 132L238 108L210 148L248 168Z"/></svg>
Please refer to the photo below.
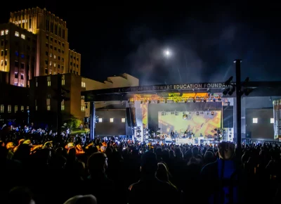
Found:
<svg viewBox="0 0 281 204"><path fill-rule="evenodd" d="M90 174L93 172L105 172L107 168L107 156L105 153L93 153L88 160Z"/></svg>

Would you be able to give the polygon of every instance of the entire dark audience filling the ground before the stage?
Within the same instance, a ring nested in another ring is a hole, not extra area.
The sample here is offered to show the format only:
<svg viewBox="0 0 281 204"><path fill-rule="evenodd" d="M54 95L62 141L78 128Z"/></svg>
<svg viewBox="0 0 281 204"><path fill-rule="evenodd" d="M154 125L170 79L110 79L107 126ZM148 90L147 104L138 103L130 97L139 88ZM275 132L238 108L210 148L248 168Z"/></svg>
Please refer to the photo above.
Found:
<svg viewBox="0 0 281 204"><path fill-rule="evenodd" d="M280 146L81 144L46 130L1 130L0 203L279 203ZM81 140L80 140L81 142ZM34 149L35 144L41 145Z"/></svg>

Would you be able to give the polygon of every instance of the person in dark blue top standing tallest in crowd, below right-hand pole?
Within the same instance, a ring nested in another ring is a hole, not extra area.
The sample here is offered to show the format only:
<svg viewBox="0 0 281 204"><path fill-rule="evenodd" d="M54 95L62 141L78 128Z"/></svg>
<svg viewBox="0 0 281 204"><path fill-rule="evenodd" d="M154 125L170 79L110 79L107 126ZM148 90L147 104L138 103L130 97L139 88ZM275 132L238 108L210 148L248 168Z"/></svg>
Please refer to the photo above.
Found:
<svg viewBox="0 0 281 204"><path fill-rule="evenodd" d="M246 184L243 171L235 158L235 144L221 142L218 144L219 158L205 165L202 169L202 181L213 184L207 192L202 193L202 203L243 203L243 189Z"/></svg>

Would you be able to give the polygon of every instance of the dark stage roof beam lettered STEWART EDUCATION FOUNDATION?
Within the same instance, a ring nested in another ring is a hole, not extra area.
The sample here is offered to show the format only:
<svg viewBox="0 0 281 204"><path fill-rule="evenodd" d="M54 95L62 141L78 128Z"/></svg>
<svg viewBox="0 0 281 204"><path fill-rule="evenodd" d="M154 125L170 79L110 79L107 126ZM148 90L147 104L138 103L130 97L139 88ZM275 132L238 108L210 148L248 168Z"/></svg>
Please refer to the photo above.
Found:
<svg viewBox="0 0 281 204"><path fill-rule="evenodd" d="M235 83L228 87L235 86ZM249 97L253 96L281 96L281 82L242 82L244 89L252 89ZM185 94L211 94L211 96L223 96L222 92L226 89L222 82L216 83L197 83L197 84L160 84L153 86L140 87L121 87L113 89L96 89L91 91L81 91L81 96L85 96L85 101L127 101L130 98L136 98L136 95L150 95L148 97L158 96L157 98L169 97L171 94L178 93L179 96Z"/></svg>

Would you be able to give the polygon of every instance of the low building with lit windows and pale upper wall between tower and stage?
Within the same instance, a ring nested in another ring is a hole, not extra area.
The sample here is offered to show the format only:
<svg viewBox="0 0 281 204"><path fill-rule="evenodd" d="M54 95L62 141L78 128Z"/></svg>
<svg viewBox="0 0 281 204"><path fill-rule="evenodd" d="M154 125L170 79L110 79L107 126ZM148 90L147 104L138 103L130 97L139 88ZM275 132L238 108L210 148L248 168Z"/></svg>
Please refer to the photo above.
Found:
<svg viewBox="0 0 281 204"><path fill-rule="evenodd" d="M108 77L105 82L98 82L68 73L62 75L61 85L64 96L68 98L68 100L60 104L63 120L68 120L71 117L84 120L84 117L89 117L90 104L85 103L84 96L81 96L81 91L138 86L138 79L131 75L123 74L121 76ZM58 75L34 77L30 80L30 112L34 113L34 117L32 117L34 121L41 120L42 115L48 117L43 119L55 121L55 113L58 113L57 90ZM115 101L110 103L114 104ZM103 104L97 104L97 106L101 107Z"/></svg>

